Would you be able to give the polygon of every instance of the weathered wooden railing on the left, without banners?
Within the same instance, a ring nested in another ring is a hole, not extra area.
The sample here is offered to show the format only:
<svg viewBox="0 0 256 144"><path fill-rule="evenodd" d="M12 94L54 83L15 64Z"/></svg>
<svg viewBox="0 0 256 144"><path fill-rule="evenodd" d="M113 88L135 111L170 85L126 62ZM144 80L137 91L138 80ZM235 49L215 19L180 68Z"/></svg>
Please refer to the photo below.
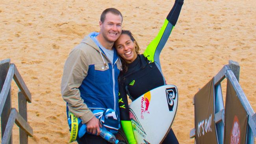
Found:
<svg viewBox="0 0 256 144"><path fill-rule="evenodd" d="M11 107L11 81L19 87L19 112ZM33 137L33 129L27 122L27 102L31 103L31 93L10 59L0 61L0 114L2 144L12 144L14 122L20 128L20 144L28 144L28 136Z"/></svg>

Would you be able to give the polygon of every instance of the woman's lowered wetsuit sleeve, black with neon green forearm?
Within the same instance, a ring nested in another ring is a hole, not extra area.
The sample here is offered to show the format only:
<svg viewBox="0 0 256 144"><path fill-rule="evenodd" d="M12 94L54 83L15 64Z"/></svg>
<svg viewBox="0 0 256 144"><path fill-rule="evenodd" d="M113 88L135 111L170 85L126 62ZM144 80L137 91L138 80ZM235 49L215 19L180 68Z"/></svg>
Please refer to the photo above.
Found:
<svg viewBox="0 0 256 144"><path fill-rule="evenodd" d="M129 105L128 105L126 89L125 89L125 85L122 85L121 81L119 81L118 97L119 97L118 102L119 102L122 128L124 130L124 133L126 135L126 138L129 144L136 144L136 140L134 138L134 133L132 130L132 122L129 117Z"/></svg>

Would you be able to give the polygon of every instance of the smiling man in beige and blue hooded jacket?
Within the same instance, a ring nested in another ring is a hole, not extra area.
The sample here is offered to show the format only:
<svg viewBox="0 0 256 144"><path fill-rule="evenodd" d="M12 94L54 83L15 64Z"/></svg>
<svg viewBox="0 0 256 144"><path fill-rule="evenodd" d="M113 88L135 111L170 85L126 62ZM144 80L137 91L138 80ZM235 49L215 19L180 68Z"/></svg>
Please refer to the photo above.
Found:
<svg viewBox="0 0 256 144"><path fill-rule="evenodd" d="M121 35L122 14L115 8L105 9L99 25L100 33L90 33L70 52L61 81L61 94L67 102L67 111L82 120L87 132L97 135L86 133L76 138L78 143L84 144L107 144L98 136L102 127L95 117L98 111L105 114L106 109L112 109L110 115L118 124L109 124L108 130L117 131L120 127L117 78L121 61L113 44ZM104 123L104 119L101 122Z"/></svg>

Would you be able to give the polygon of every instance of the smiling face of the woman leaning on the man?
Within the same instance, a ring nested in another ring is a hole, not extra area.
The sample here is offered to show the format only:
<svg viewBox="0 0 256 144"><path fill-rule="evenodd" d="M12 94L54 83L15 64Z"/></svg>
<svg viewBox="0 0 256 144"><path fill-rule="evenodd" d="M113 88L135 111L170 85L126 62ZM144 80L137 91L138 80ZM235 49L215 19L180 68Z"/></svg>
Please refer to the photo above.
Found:
<svg viewBox="0 0 256 144"><path fill-rule="evenodd" d="M115 41L115 48L126 63L132 63L137 57L135 44L127 34L120 35Z"/></svg>

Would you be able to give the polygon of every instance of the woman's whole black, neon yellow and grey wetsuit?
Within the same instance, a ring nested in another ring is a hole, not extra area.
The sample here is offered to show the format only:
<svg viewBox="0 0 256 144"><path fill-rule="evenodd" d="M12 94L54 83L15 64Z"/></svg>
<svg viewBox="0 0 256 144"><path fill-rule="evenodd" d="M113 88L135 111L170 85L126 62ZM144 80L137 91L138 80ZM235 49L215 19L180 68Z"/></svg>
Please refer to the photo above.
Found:
<svg viewBox="0 0 256 144"><path fill-rule="evenodd" d="M175 0L174 6L168 14L165 22L155 37L148 45L143 55L137 55L137 58L128 64L128 70L122 71L119 75L119 109L121 124L129 143L135 143L132 132L132 124L129 118L129 106L127 95L135 100L146 92L165 85L160 66L160 53L163 49L183 5L183 0ZM178 144L178 140L171 129L162 144Z"/></svg>

